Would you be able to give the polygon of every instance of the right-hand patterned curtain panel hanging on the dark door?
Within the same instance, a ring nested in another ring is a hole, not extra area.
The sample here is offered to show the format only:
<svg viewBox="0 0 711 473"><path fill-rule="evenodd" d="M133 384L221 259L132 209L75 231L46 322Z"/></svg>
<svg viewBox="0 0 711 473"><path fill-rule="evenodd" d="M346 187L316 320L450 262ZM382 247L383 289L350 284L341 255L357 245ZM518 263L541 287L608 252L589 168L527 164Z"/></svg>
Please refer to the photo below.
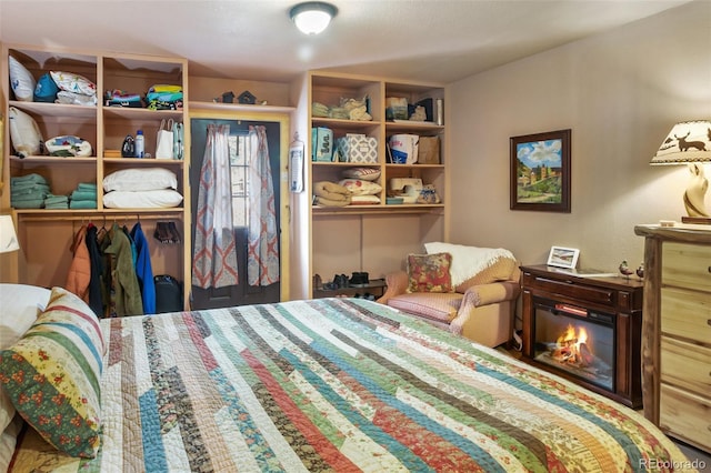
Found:
<svg viewBox="0 0 711 473"><path fill-rule="evenodd" d="M269 285L279 281L279 236L274 211L267 128L249 128L249 246L247 278L249 285Z"/></svg>

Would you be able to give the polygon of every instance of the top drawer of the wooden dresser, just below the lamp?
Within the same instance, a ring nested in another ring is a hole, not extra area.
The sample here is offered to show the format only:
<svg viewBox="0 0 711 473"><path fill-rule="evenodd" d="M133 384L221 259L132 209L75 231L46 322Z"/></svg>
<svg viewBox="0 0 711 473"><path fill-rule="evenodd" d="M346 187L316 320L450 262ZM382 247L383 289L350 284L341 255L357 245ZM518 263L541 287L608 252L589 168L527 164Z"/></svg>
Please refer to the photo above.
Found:
<svg viewBox="0 0 711 473"><path fill-rule="evenodd" d="M662 285L711 292L711 245L664 243Z"/></svg>

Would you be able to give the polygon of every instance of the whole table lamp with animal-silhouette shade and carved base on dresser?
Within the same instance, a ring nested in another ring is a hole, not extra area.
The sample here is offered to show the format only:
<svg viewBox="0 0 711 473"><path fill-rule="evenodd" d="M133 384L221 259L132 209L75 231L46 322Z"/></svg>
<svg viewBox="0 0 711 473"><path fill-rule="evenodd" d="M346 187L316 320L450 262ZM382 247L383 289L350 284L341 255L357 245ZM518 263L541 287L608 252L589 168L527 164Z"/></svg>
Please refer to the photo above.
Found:
<svg viewBox="0 0 711 473"><path fill-rule="evenodd" d="M685 121L674 124L650 162L651 165L687 164L691 182L683 199L688 217L684 223L711 224L711 215L704 205L709 181L703 164L711 162L711 121Z"/></svg>

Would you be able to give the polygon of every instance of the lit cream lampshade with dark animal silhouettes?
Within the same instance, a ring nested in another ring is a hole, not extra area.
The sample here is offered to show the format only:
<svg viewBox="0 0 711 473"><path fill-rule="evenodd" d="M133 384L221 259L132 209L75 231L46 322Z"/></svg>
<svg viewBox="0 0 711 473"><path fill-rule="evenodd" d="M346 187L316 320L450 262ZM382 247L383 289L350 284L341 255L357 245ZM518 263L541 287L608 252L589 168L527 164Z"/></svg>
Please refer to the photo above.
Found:
<svg viewBox="0 0 711 473"><path fill-rule="evenodd" d="M677 123L652 158L650 164L711 162L711 121Z"/></svg>

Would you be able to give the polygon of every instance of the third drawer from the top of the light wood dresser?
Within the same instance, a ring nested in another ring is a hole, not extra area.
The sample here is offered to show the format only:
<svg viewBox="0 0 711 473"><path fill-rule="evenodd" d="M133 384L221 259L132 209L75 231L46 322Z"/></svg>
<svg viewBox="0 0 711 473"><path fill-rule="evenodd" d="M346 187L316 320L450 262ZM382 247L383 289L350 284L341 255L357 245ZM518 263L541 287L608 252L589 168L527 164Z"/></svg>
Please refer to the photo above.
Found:
<svg viewBox="0 0 711 473"><path fill-rule="evenodd" d="M661 380L702 396L711 393L711 349L662 336Z"/></svg>

